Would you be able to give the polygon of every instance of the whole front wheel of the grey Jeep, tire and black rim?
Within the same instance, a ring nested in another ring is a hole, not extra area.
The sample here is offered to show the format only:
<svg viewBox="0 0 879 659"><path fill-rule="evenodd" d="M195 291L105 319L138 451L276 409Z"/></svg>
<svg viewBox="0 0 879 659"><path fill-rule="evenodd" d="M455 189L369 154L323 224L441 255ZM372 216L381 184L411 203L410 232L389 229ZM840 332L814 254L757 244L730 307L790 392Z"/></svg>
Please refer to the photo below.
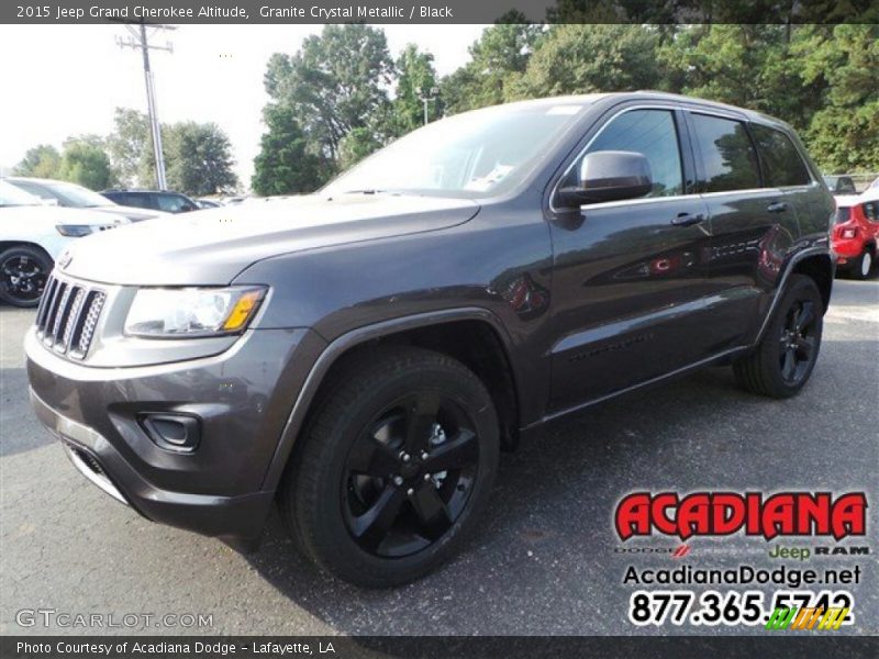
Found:
<svg viewBox="0 0 879 659"><path fill-rule="evenodd" d="M491 396L460 362L408 346L360 354L331 384L281 483L281 517L345 581L416 580L460 547L489 499Z"/></svg>

